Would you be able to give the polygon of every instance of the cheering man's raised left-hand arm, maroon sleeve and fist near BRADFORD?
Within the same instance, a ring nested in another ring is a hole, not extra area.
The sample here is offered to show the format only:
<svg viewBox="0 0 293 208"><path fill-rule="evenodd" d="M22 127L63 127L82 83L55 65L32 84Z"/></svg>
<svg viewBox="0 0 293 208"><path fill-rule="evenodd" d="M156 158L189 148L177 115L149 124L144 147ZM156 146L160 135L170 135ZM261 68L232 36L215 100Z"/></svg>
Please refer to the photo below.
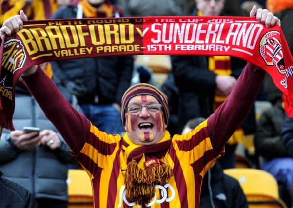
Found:
<svg viewBox="0 0 293 208"><path fill-rule="evenodd" d="M1 38L5 34L12 35L22 29L25 20L27 16L21 10L19 15L4 21L0 29ZM71 150L79 152L89 135L88 119L71 106L40 67L31 67L22 77L47 118L56 126Z"/></svg>

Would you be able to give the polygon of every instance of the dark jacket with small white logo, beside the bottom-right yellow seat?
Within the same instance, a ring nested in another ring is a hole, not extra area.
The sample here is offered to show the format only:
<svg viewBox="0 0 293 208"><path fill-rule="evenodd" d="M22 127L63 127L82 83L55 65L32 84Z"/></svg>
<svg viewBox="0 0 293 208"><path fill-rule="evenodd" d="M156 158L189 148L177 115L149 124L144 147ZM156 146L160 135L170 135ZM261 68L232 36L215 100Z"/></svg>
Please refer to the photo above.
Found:
<svg viewBox="0 0 293 208"><path fill-rule="evenodd" d="M208 170L203 178L199 207L213 208L212 203L215 208L248 208L245 194L239 182L224 174L218 162Z"/></svg>

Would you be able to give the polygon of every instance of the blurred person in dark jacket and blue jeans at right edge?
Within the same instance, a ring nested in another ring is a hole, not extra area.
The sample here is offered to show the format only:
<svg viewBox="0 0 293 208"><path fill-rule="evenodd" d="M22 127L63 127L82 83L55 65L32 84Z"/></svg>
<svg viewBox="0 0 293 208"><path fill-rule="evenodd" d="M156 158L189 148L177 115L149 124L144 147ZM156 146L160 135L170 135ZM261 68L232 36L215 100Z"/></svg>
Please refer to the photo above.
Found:
<svg viewBox="0 0 293 208"><path fill-rule="evenodd" d="M289 156L281 141L284 123L284 101L281 98L265 110L257 121L254 146L261 156L260 169L271 173L279 184L280 198L291 207L293 185L293 158Z"/></svg>

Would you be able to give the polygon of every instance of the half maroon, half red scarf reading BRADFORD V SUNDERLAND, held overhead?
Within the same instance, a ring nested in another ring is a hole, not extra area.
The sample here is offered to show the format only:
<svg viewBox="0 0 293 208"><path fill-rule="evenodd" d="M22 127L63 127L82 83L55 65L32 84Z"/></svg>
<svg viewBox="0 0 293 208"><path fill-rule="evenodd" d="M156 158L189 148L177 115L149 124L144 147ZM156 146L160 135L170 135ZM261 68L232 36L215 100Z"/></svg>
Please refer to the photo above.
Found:
<svg viewBox="0 0 293 208"><path fill-rule="evenodd" d="M0 125L13 130L14 89L29 67L85 57L189 54L244 59L266 70L293 117L293 58L278 25L249 17L128 17L24 22L5 37L0 57Z"/></svg>

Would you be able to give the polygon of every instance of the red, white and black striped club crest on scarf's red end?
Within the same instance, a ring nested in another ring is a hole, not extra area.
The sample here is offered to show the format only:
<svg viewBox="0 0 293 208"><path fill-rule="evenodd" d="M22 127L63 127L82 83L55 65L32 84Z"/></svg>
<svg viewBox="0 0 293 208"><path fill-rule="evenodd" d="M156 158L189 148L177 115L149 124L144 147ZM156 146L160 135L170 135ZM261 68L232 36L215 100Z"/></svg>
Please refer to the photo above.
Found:
<svg viewBox="0 0 293 208"><path fill-rule="evenodd" d="M278 31L265 33L260 40L259 52L268 66L275 65L279 73L285 74L284 54L279 40L280 36Z"/></svg>

